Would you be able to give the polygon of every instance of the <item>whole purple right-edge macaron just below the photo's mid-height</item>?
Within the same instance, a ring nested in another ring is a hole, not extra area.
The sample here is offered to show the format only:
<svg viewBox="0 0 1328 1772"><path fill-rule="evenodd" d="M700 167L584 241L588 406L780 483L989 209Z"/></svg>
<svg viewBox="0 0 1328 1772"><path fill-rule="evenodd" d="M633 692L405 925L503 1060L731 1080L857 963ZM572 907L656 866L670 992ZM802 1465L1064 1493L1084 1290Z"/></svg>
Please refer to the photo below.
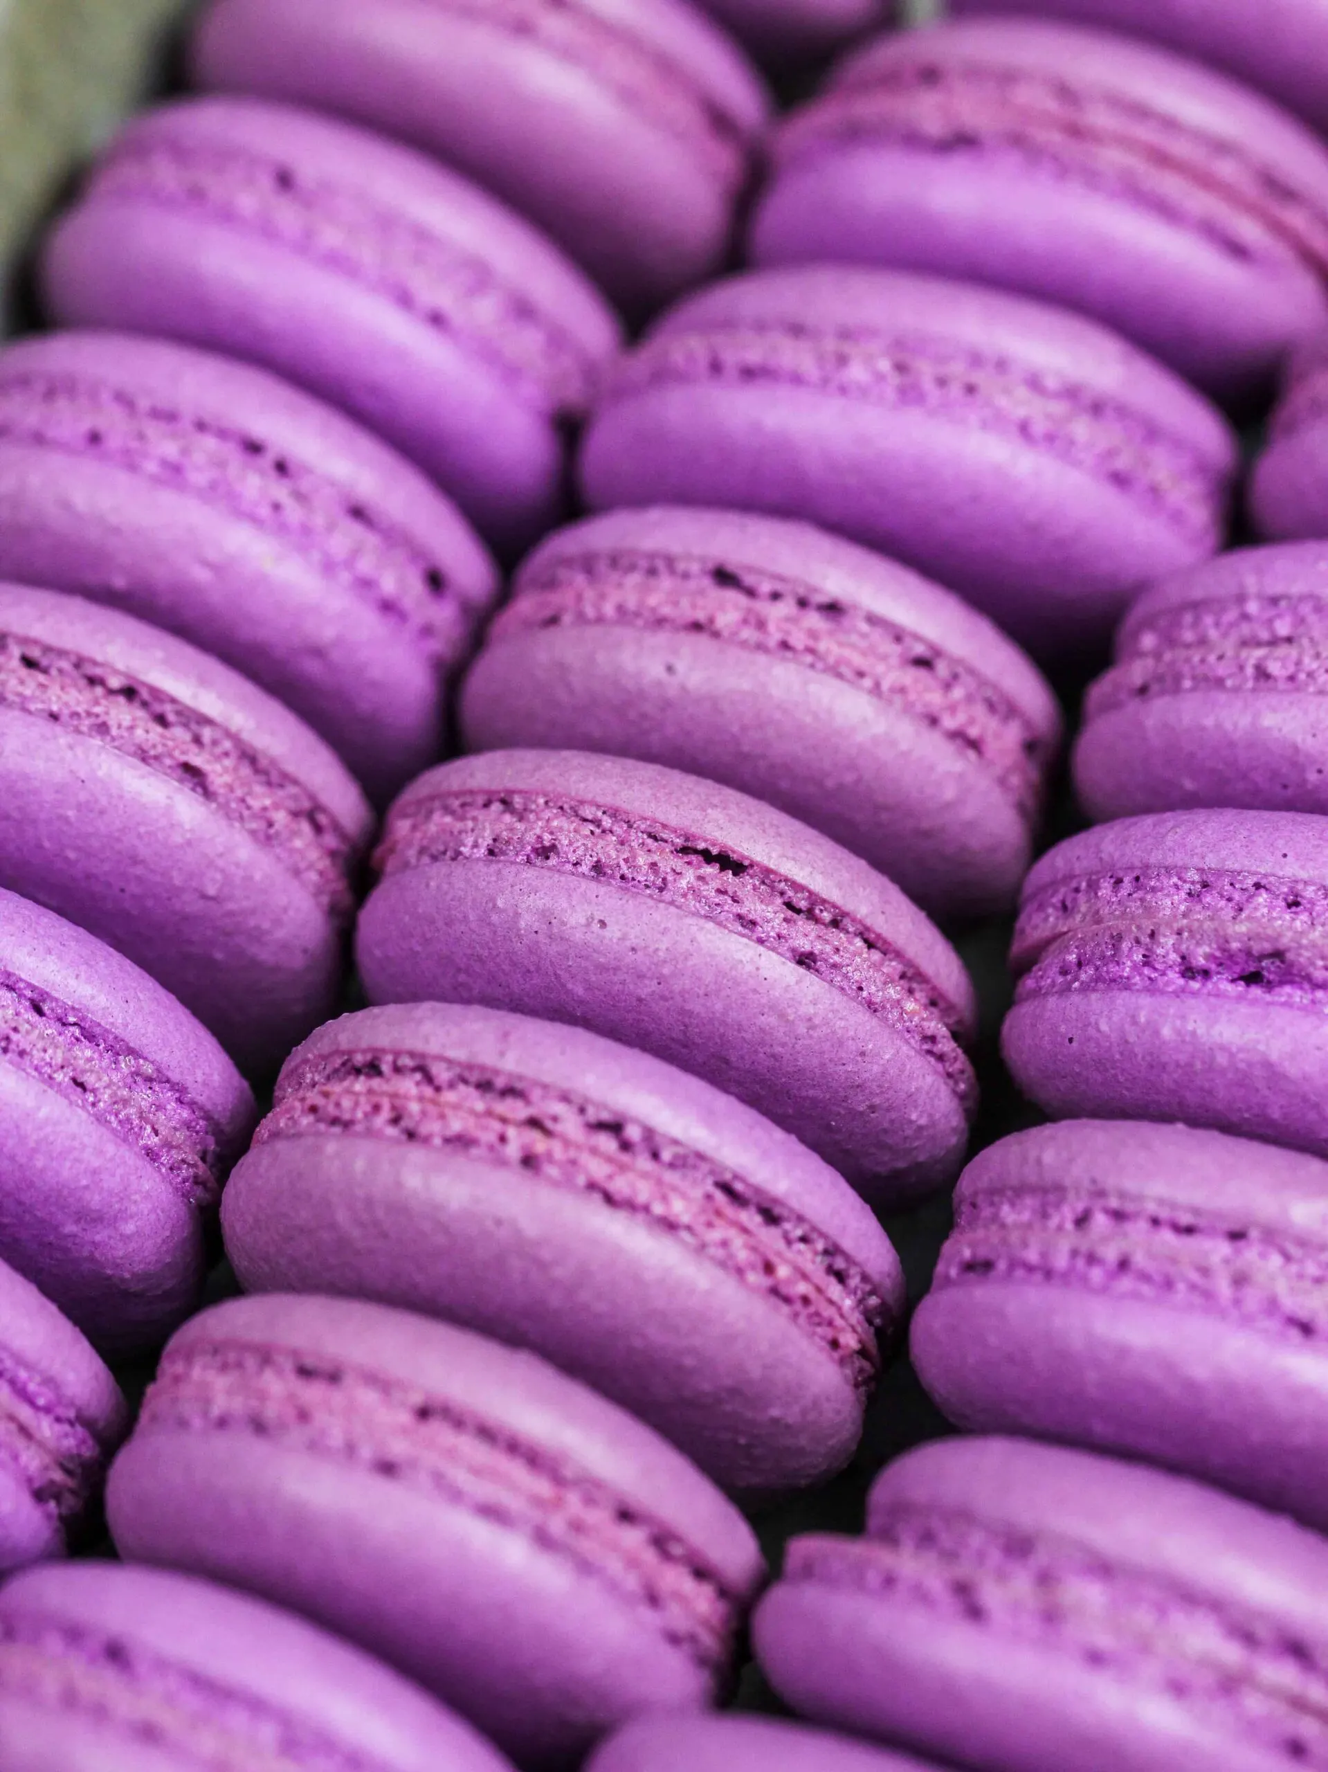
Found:
<svg viewBox="0 0 1328 1772"><path fill-rule="evenodd" d="M1057 1120L1186 1120L1328 1155L1326 918L1314 813L1153 813L1071 836L1023 888L1015 1081Z"/></svg>

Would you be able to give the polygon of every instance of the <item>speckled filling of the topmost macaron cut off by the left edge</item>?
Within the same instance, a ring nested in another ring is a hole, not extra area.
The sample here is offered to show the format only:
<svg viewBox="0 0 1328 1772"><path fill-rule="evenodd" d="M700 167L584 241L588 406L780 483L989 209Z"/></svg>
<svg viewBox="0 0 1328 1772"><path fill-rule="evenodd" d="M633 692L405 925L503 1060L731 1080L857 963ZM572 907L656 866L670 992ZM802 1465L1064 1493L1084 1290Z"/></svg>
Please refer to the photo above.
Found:
<svg viewBox="0 0 1328 1772"><path fill-rule="evenodd" d="M101 461L280 539L317 574L407 627L430 659L452 659L466 611L448 574L384 510L260 431L133 388L69 372L7 370L0 441Z"/></svg>

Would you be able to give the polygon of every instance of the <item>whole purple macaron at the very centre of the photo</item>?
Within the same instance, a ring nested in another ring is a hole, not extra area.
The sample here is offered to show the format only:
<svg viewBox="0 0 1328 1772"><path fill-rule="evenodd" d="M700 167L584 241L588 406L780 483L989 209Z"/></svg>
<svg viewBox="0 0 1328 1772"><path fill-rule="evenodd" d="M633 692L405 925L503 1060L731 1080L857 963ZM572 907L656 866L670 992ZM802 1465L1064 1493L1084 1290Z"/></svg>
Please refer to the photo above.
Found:
<svg viewBox="0 0 1328 1772"><path fill-rule="evenodd" d="M949 1180L974 992L882 874L675 769L487 751L400 796L358 930L374 1003L482 1003L653 1053L873 1201Z"/></svg>

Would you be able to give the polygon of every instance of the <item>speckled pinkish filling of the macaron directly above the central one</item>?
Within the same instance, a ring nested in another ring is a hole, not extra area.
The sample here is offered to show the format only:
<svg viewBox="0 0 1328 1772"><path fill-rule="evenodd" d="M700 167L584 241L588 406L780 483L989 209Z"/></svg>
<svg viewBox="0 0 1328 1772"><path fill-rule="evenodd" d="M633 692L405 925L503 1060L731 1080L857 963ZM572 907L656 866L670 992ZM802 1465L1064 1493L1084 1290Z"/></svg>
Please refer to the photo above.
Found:
<svg viewBox="0 0 1328 1772"><path fill-rule="evenodd" d="M899 622L781 572L618 548L558 555L517 585L490 641L572 627L703 634L802 664L908 709L983 764L1023 819L1038 815L1048 741L993 682Z"/></svg>

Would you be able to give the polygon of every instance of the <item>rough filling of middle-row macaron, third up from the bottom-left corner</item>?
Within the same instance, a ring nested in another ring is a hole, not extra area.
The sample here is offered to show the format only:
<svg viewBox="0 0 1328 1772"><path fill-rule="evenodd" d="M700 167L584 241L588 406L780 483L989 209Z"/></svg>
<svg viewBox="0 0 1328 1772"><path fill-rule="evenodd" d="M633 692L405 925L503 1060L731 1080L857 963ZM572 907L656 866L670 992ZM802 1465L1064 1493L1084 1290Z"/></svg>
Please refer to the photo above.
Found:
<svg viewBox="0 0 1328 1772"><path fill-rule="evenodd" d="M630 1115L485 1065L352 1051L289 1067L255 1145L308 1134L448 1150L629 1212L768 1299L855 1389L875 1384L887 1310L869 1276L791 1207Z"/></svg>

